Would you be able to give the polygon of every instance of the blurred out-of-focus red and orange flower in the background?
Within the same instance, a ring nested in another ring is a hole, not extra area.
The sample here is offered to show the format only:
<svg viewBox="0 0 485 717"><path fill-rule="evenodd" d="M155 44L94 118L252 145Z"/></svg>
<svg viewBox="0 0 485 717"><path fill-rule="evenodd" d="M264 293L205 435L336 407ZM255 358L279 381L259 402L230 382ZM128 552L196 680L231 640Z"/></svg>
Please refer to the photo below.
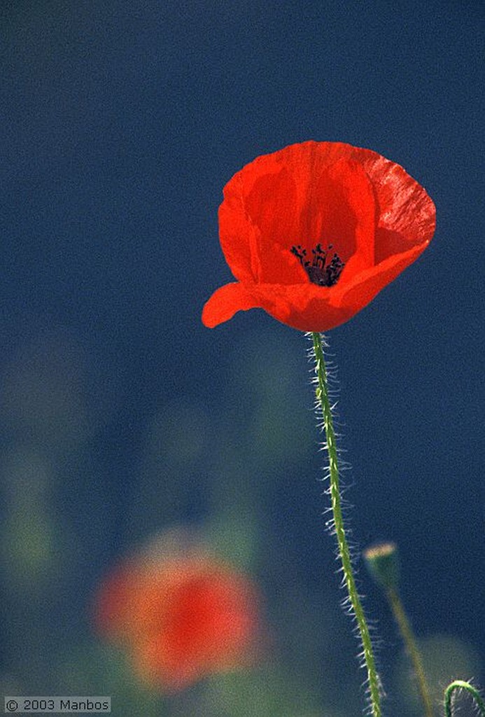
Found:
<svg viewBox="0 0 485 717"><path fill-rule="evenodd" d="M95 622L128 645L143 680L168 692L250 665L261 647L256 587L200 547L125 561L97 593Z"/></svg>

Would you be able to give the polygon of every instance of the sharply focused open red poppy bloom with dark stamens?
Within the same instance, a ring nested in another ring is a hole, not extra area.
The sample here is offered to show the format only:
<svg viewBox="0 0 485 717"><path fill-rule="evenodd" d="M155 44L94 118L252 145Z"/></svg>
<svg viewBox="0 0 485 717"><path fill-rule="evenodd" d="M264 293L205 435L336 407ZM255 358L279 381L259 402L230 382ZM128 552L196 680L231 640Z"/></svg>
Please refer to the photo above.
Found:
<svg viewBox="0 0 485 717"><path fill-rule="evenodd" d="M302 331L338 326L426 249L435 214L370 149L310 141L258 157L224 187L219 234L237 281L213 293L203 323L262 308Z"/></svg>

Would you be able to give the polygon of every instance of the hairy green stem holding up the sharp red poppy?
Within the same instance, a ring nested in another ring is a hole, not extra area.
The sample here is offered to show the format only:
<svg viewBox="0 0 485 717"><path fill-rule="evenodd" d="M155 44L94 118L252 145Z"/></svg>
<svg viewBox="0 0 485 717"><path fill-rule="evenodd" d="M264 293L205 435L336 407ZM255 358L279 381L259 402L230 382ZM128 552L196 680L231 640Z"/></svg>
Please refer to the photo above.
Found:
<svg viewBox="0 0 485 717"><path fill-rule="evenodd" d="M325 435L327 437L327 453L329 460L330 474L330 497L332 500L332 511L335 524L335 535L337 536L338 550L340 560L342 561L342 570L345 585L349 594L350 604L352 605L355 620L360 632L362 640L362 654L365 660L365 667L368 674L368 688L370 705L372 707L373 717L381 717L380 710L380 689L379 678L375 668L375 659L373 646L370 640L370 632L368 624L365 620L365 614L362 609L360 597L355 585L355 577L352 571L352 559L350 558L350 549L345 535L344 522L342 517L342 501L340 498L339 470L337 461L337 442L335 440L335 431L333 427L332 408L330 406L330 398L327 386L327 368L325 366L325 357L323 351L322 336L320 333L312 333L313 351L316 361L317 372L317 401L322 407L322 414L325 426Z"/></svg>

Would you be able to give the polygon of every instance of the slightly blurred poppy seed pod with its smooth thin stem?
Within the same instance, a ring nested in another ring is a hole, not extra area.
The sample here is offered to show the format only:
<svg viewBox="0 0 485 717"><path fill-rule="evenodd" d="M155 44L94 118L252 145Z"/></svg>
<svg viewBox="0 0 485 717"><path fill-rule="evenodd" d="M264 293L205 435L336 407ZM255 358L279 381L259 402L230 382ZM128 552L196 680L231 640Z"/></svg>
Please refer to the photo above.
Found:
<svg viewBox="0 0 485 717"><path fill-rule="evenodd" d="M418 681L418 690L423 702L426 717L433 717L433 703L431 701L426 675L423 668L423 660L418 650L413 629L410 626L405 614L403 602L399 596L399 561L398 549L394 543L381 543L368 548L364 552L365 561L368 564L370 574L375 581L384 588L390 607L393 611L395 621L398 623L401 637L413 665L413 671Z"/></svg>

